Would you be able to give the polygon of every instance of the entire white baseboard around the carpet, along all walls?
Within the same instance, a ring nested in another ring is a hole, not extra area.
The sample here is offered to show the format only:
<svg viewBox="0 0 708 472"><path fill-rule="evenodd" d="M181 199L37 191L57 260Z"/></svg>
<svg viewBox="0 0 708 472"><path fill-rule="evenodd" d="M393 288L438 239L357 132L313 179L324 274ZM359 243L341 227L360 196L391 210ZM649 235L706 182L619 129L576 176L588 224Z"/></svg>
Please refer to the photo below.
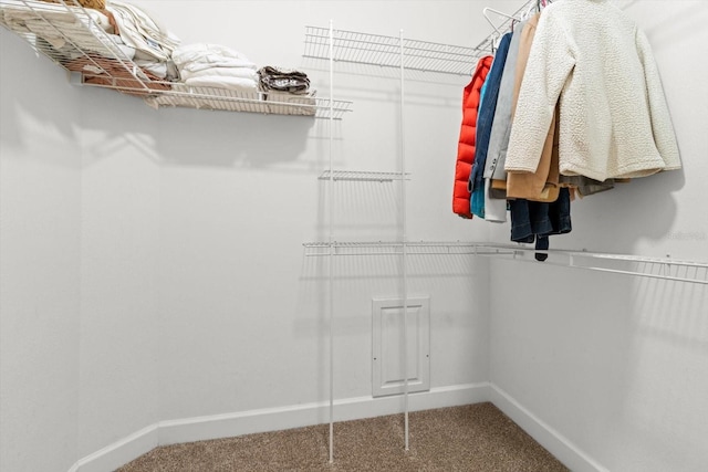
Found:
<svg viewBox="0 0 708 472"><path fill-rule="evenodd" d="M408 409L430 410L482 401L491 401L573 472L607 472L607 469L493 384L466 384L410 394ZM334 421L395 415L403 409L402 396L346 398L334 402ZM329 411L329 402L315 402L160 421L86 455L69 472L110 472L158 445L326 423L330 421Z"/></svg>

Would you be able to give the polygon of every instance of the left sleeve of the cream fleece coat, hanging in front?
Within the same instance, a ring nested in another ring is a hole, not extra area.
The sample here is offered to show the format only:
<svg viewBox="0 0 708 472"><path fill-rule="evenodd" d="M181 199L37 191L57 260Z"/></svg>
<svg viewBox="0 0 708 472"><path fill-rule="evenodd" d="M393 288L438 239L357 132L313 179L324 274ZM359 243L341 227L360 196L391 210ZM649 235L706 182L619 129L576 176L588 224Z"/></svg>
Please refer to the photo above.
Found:
<svg viewBox="0 0 708 472"><path fill-rule="evenodd" d="M542 14L519 91L504 164L507 172L535 172L555 104L575 57L564 25L555 17Z"/></svg>

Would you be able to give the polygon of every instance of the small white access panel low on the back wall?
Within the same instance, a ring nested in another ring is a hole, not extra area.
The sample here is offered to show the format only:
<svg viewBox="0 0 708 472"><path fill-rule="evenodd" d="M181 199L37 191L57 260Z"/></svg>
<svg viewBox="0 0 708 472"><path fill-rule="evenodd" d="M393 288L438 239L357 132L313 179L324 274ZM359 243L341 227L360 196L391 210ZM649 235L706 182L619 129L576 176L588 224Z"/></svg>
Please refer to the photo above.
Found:
<svg viewBox="0 0 708 472"><path fill-rule="evenodd" d="M404 394L403 298L373 300L372 395ZM408 392L430 389L430 298L408 298Z"/></svg>

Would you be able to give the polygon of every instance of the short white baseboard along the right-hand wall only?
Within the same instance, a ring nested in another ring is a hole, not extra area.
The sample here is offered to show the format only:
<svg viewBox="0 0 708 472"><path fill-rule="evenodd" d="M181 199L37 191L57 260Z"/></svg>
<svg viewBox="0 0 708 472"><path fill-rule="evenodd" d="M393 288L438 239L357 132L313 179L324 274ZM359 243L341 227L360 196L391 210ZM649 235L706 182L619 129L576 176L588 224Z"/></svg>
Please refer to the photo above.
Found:
<svg viewBox="0 0 708 472"><path fill-rule="evenodd" d="M490 384L490 400L497 408L519 424L539 444L573 472L607 472L568 438L543 422L509 394Z"/></svg>

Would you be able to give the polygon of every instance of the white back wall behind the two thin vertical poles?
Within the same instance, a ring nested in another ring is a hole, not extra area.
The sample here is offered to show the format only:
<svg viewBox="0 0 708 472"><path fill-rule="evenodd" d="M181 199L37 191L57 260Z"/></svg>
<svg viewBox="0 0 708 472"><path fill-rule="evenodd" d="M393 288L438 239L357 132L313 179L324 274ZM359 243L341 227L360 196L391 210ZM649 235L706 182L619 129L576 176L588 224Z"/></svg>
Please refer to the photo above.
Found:
<svg viewBox="0 0 708 472"><path fill-rule="evenodd" d="M261 65L302 64L304 27L327 27L330 19L339 29L394 36L404 29L457 44L470 44L480 36L473 24L483 24L481 4L454 1L146 4L185 42L228 44ZM219 14L196 23L209 7ZM460 18L431 29L431 17L460 13L477 23ZM251 21L235 20L243 15ZM305 64L327 96L327 64ZM334 126L337 169L399 169L399 82L383 75L335 75L336 97L354 101L355 109ZM464 85L465 77L406 84L409 239L469 240L475 231L486 239L486 228L450 217ZM159 113L162 418L326 400L327 266L302 248L327 238L329 189L317 180L329 159L326 122ZM333 193L337 240L400 238L396 183L339 183ZM412 295L431 297L433 386L483 381L487 311L483 302L472 315L469 307L486 300L487 277L477 279L469 256L442 259L410 268ZM399 296L399 262L343 258L335 273L335 397L368 396L372 298Z"/></svg>

